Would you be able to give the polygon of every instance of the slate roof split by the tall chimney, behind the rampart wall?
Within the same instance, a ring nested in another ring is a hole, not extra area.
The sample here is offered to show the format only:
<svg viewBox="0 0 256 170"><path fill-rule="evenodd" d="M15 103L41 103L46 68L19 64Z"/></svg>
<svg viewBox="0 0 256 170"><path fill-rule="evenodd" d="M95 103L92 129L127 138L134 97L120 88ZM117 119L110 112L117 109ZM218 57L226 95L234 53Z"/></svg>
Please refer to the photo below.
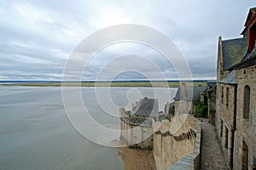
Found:
<svg viewBox="0 0 256 170"><path fill-rule="evenodd" d="M186 100L195 101L200 98L201 93L207 90L206 86L186 86ZM174 100L180 100L180 87L177 88L177 93Z"/></svg>

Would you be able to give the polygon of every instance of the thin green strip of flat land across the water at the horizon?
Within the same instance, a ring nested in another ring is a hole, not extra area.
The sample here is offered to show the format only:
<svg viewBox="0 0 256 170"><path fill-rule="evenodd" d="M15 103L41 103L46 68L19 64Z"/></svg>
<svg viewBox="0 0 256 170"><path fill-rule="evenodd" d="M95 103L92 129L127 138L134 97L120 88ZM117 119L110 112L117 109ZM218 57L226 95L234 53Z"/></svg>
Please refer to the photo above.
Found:
<svg viewBox="0 0 256 170"><path fill-rule="evenodd" d="M118 81L118 82L0 82L3 86L30 87L144 87L144 88L177 88L178 81ZM188 85L206 86L207 81L187 82Z"/></svg>

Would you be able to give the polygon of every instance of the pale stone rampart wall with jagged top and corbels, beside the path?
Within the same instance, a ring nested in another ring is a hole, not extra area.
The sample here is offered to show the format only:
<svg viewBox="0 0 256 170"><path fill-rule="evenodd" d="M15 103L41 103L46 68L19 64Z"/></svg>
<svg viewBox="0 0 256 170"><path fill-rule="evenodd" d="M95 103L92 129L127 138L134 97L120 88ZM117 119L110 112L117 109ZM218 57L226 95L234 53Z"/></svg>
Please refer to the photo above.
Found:
<svg viewBox="0 0 256 170"><path fill-rule="evenodd" d="M172 117L171 122L153 122L154 160L157 169L172 167L183 156L193 153L198 120L189 115Z"/></svg>

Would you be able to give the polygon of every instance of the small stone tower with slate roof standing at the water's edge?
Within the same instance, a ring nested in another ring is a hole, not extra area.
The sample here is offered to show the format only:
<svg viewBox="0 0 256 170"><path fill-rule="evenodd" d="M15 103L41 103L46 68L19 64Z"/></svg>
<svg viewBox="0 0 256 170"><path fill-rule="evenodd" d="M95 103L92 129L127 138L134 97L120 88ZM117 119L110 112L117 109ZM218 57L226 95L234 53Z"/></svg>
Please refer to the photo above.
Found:
<svg viewBox="0 0 256 170"><path fill-rule="evenodd" d="M119 109L121 122L120 140L131 147L152 150L152 120L159 121L158 99L140 99L131 111Z"/></svg>

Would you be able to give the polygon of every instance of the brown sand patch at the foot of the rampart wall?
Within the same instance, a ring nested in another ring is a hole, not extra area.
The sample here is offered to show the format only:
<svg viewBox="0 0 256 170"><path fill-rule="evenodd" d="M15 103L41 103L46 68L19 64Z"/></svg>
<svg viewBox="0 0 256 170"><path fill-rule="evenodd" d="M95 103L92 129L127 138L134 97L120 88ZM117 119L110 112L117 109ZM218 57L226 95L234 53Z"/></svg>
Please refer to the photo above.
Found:
<svg viewBox="0 0 256 170"><path fill-rule="evenodd" d="M118 144L118 141L114 141ZM119 156L125 161L125 170L156 170L152 150L135 150L119 147Z"/></svg>

